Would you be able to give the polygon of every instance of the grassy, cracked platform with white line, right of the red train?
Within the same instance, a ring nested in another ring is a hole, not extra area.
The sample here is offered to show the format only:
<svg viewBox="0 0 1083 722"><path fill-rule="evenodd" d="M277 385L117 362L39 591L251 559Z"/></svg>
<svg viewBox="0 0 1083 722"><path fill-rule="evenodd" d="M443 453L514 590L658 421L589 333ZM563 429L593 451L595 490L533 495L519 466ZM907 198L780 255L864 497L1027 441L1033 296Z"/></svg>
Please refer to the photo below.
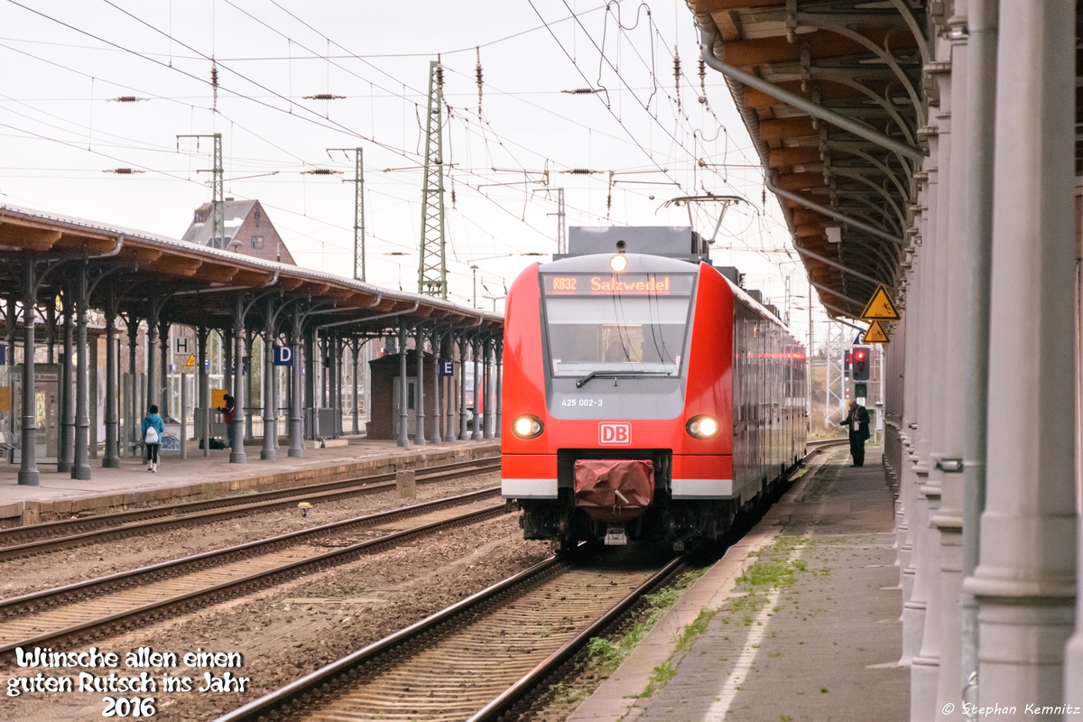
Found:
<svg viewBox="0 0 1083 722"><path fill-rule="evenodd" d="M849 463L810 467L569 721L909 720L893 498L878 448Z"/></svg>

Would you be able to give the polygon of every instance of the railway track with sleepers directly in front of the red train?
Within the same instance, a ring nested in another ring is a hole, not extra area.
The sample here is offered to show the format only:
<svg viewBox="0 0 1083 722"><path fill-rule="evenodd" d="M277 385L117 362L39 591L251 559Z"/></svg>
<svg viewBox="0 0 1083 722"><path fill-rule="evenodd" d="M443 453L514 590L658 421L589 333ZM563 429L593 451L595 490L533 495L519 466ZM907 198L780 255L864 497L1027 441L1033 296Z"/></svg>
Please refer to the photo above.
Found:
<svg viewBox="0 0 1083 722"><path fill-rule="evenodd" d="M551 559L218 722L496 720L683 564Z"/></svg>

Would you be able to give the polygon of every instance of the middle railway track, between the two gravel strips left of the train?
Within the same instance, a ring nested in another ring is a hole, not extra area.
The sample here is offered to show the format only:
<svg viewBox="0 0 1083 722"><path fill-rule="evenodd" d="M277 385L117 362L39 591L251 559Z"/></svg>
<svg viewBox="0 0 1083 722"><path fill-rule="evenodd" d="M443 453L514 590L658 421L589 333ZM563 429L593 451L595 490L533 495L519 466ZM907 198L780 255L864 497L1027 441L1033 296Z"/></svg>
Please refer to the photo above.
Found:
<svg viewBox="0 0 1083 722"><path fill-rule="evenodd" d="M16 646L100 639L419 537L494 518L506 507L486 502L499 493L499 487L482 489L4 600L0 602L0 654ZM455 513L464 506L473 509ZM425 523L378 536L374 531L417 517Z"/></svg>

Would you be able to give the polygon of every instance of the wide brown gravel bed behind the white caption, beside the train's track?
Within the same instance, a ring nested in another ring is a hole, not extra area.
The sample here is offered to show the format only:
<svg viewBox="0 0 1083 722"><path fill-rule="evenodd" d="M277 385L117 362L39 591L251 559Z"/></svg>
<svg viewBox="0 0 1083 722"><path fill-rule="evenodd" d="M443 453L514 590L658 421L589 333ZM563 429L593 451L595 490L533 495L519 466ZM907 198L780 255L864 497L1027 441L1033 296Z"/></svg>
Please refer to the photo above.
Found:
<svg viewBox="0 0 1083 722"><path fill-rule="evenodd" d="M495 523L440 534L198 614L101 640L99 646L118 653L140 646L179 654L197 647L240 652L244 667L239 669L186 669L181 664L168 671L173 677L194 678L197 686L203 684L205 671L219 675L231 671L251 678L245 693L162 693L159 687L154 695L156 720L213 720L548 555L547 544L522 540L516 516L509 514ZM4 685L13 674L37 671L16 668L12 661L10 656L0 660ZM77 677L81 670L45 671ZM133 673L122 665L117 671ZM160 680L162 670L149 671ZM0 697L0 719L100 719L104 708L101 698L107 694L29 693Z"/></svg>

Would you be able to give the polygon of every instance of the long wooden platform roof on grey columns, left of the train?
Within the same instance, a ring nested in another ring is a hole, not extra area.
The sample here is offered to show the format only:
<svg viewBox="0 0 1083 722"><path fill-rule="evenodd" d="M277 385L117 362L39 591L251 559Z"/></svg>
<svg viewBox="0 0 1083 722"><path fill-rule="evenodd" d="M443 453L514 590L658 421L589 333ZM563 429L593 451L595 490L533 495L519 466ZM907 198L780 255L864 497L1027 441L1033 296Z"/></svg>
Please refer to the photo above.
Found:
<svg viewBox="0 0 1083 722"><path fill-rule="evenodd" d="M376 332L397 325L431 321L447 326L499 329L504 318L478 309L440 299L391 291L331 274L263 261L196 246L142 231L94 221L64 218L41 211L0 205L0 288L22 300L22 268L35 263L38 273L54 262L86 259L92 274L112 271L110 284L96 287L92 304L102 307L102 294L112 288L121 312L147 317L149 303L166 302L171 323L227 327L237 292L280 290L304 297L321 312L321 325L344 324L343 332ZM58 291L63 274L47 274L39 298Z"/></svg>

